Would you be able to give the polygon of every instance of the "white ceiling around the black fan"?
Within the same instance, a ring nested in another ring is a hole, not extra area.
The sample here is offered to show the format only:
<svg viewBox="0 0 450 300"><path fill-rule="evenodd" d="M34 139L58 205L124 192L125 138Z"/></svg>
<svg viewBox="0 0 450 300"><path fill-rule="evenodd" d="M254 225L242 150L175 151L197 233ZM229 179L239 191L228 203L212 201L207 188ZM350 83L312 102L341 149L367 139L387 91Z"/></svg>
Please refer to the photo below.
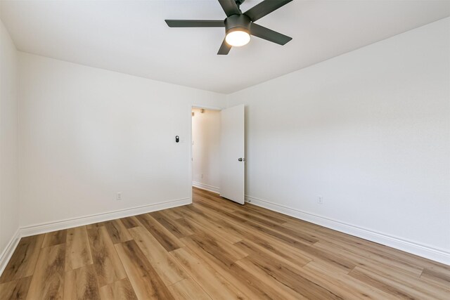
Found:
<svg viewBox="0 0 450 300"><path fill-rule="evenodd" d="M261 2L247 0L242 11ZM450 15L450 1L294 0L258 20L293 37L253 37L217 56L223 28L169 28L169 19L224 19L216 0L7 1L1 20L20 51L232 93Z"/></svg>

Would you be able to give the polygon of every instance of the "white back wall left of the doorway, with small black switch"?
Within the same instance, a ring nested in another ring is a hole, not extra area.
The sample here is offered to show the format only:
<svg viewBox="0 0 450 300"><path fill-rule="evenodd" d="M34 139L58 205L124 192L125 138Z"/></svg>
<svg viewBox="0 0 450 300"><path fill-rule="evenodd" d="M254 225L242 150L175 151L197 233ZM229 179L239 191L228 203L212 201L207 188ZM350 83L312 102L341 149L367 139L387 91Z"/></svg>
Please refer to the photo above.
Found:
<svg viewBox="0 0 450 300"><path fill-rule="evenodd" d="M191 106L224 95L20 52L19 75L21 226L191 197Z"/></svg>

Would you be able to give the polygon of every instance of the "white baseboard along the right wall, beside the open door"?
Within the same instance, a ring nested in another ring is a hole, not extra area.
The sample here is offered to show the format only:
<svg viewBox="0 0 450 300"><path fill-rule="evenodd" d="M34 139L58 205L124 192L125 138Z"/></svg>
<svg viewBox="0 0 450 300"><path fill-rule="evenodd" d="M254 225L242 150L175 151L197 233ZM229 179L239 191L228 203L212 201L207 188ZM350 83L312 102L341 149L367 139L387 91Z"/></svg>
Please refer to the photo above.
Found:
<svg viewBox="0 0 450 300"><path fill-rule="evenodd" d="M422 256L433 261L438 261L439 263L450 265L450 252L444 249L437 249L425 244L419 244L417 242L404 240L399 237L387 235L385 233L379 233L375 230L361 228L345 222L325 218L323 216L317 216L316 214L310 214L306 211L300 211L291 207L285 207L280 204L275 204L273 202L261 200L248 195L245 196L245 202L249 202L251 204L255 204L259 207L264 207L273 211L278 211L281 214L287 214L288 216L293 216L297 219L308 221L326 228L338 230L342 233L361 237L364 240L378 242L379 244L384 244L385 246Z"/></svg>

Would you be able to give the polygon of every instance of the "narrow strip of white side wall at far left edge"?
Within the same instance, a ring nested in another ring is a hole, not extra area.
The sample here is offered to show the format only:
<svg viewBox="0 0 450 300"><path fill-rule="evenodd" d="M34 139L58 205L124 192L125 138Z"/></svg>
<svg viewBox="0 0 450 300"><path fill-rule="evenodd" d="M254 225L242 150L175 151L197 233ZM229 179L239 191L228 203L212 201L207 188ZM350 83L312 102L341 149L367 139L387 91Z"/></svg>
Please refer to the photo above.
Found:
<svg viewBox="0 0 450 300"><path fill-rule="evenodd" d="M17 51L0 21L0 269L19 228L17 86Z"/></svg>

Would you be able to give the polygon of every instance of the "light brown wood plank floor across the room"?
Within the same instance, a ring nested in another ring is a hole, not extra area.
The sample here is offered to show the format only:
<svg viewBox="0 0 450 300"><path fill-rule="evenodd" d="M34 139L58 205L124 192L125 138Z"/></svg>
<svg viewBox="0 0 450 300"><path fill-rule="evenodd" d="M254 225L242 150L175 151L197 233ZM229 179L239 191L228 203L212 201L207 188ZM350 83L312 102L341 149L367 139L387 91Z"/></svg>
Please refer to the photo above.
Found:
<svg viewBox="0 0 450 300"><path fill-rule="evenodd" d="M194 188L191 205L23 237L0 299L450 299L450 266Z"/></svg>

